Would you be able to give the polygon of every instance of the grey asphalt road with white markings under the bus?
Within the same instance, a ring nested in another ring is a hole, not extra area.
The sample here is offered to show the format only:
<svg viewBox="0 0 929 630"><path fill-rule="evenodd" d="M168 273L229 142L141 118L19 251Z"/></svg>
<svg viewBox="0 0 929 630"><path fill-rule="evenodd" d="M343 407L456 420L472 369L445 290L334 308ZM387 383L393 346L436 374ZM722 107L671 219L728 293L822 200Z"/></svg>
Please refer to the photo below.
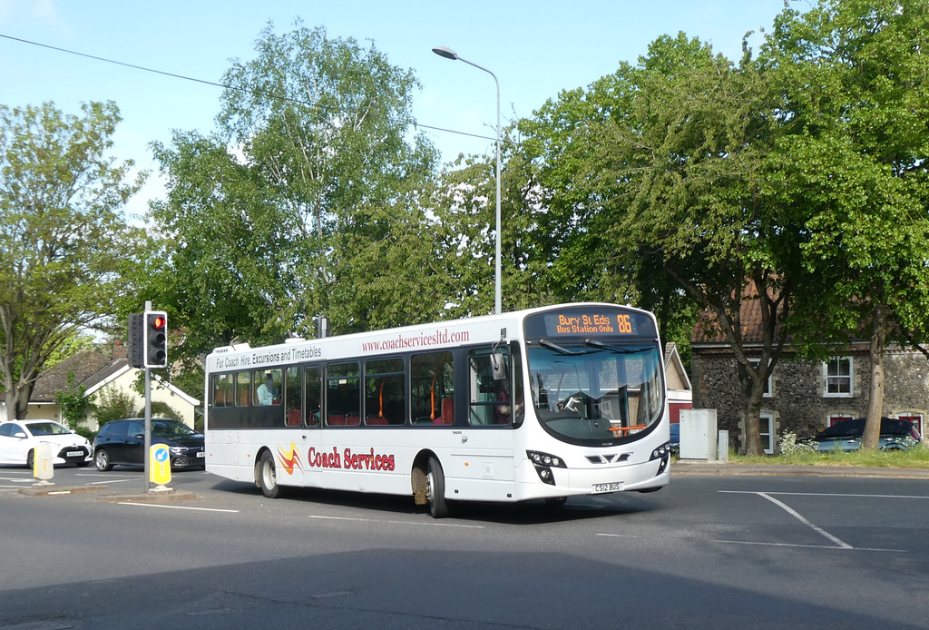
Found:
<svg viewBox="0 0 929 630"><path fill-rule="evenodd" d="M929 479L699 474L459 505L0 468L0 630L927 628ZM100 489L105 488L105 489ZM168 500L170 498L180 500Z"/></svg>

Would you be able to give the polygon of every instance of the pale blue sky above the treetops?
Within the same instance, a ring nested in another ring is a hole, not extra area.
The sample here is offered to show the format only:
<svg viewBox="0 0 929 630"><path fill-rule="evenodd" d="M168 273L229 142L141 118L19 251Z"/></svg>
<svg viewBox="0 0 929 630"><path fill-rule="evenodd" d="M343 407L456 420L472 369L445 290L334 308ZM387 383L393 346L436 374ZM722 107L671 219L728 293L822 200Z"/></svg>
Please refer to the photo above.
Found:
<svg viewBox="0 0 929 630"><path fill-rule="evenodd" d="M413 104L421 124L492 137L493 79L438 57L434 46L450 46L496 73L505 125L561 90L614 72L620 61L635 63L662 34L683 31L737 60L742 36L769 31L783 6L783 0L0 0L0 34L218 82L229 59L253 57L255 38L269 20L280 33L299 17L308 27L325 27L330 37L373 41L391 63L411 68L422 84ZM757 44L760 36L750 41ZM0 103L51 100L77 113L81 102L114 100L124 119L114 152L152 171L148 143L169 141L172 129L209 133L220 92L0 38ZM444 160L493 151L491 140L427 134ZM141 212L161 194L151 177L130 211Z"/></svg>

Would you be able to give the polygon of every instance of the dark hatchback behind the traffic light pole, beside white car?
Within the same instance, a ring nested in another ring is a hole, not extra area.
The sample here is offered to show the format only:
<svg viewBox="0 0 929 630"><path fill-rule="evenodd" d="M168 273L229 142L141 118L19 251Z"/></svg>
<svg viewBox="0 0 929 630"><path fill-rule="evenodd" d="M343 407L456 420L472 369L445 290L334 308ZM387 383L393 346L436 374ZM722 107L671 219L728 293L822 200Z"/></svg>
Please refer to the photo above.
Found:
<svg viewBox="0 0 929 630"><path fill-rule="evenodd" d="M177 420L151 419L151 443L165 444L172 468L205 467L203 434ZM100 427L94 438L94 464L98 470L116 465L145 465L145 419L113 420Z"/></svg>

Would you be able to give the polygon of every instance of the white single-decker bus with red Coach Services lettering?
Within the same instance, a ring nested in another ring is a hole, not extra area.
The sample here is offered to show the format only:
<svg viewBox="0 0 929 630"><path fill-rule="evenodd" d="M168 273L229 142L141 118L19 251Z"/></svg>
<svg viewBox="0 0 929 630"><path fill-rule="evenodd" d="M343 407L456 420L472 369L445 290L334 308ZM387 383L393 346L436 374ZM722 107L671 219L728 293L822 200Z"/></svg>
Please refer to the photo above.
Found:
<svg viewBox="0 0 929 630"><path fill-rule="evenodd" d="M561 504L661 489L668 405L651 313L565 304L206 359L206 469L282 487Z"/></svg>

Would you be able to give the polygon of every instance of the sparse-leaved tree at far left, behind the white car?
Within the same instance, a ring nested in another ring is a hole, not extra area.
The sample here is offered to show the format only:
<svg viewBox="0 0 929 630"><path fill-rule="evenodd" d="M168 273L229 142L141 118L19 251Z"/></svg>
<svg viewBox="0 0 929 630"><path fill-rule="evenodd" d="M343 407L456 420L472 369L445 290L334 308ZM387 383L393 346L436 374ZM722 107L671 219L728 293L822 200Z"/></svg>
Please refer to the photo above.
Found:
<svg viewBox="0 0 929 630"><path fill-rule="evenodd" d="M10 417L24 417L42 366L75 331L111 322L133 259L124 203L142 177L107 155L115 104L81 116L53 104L0 105L0 374Z"/></svg>

